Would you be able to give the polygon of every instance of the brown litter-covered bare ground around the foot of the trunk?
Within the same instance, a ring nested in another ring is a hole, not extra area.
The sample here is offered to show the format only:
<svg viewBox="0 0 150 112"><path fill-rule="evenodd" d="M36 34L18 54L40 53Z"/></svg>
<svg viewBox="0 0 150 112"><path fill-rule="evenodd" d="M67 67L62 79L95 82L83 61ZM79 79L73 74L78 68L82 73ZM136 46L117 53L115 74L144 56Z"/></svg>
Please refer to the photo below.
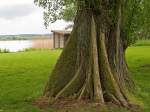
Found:
<svg viewBox="0 0 150 112"><path fill-rule="evenodd" d="M74 100L74 99L63 99L63 100L55 100L55 102L52 102L50 98L48 97L40 97L36 101L32 103L34 106L40 108L40 109L57 109L57 110L64 110L66 111L80 111L80 109L88 109L88 111L97 110L98 112L103 112L104 110L109 110L109 108L113 107L115 109L119 108L120 105L114 104L113 102L107 102L107 103L100 103L100 102L92 102L91 100ZM110 108L110 110L111 110ZM126 109L129 109L132 112L142 112L143 109L139 105L130 104L130 106ZM111 110L112 111L112 110Z"/></svg>

